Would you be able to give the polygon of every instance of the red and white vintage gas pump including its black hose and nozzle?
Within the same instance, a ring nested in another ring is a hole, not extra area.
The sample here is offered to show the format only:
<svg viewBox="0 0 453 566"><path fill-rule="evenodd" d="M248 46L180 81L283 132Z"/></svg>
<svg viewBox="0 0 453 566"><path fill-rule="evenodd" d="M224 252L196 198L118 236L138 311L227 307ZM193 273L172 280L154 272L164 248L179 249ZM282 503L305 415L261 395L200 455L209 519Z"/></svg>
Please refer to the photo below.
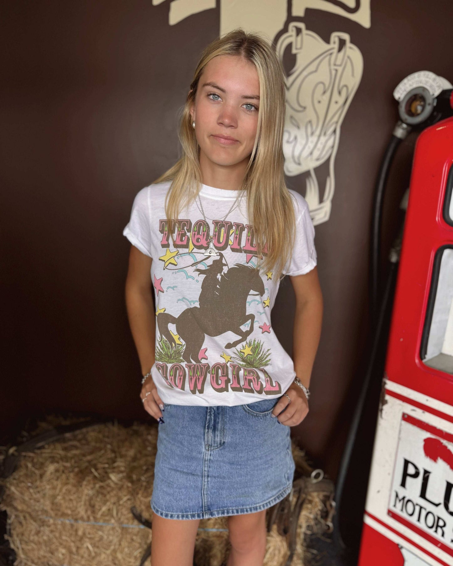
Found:
<svg viewBox="0 0 453 566"><path fill-rule="evenodd" d="M394 97L400 119L383 153L371 216L366 366L336 477L330 554L332 564L348 566L453 566L453 85L418 71ZM387 177L412 131L421 133L400 205L407 212L384 280ZM342 514L347 478L358 505L347 500Z"/></svg>

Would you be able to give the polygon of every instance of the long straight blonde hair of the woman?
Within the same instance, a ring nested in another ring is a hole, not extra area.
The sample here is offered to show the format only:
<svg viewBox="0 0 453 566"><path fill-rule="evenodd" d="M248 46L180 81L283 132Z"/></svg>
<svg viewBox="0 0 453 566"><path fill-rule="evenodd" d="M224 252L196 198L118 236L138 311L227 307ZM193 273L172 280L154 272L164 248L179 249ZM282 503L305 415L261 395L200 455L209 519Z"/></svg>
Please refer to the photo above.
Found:
<svg viewBox="0 0 453 566"><path fill-rule="evenodd" d="M182 157L153 183L173 181L165 198L167 220L175 221L181 208L192 204L198 195L202 171L198 158L199 145L189 111L195 104L204 67L217 55L243 57L257 68L260 85L257 135L238 189L246 190L247 215L257 245L256 269L261 268L264 272L272 270L273 275L280 278L292 255L296 215L292 196L285 185L283 169L284 70L275 50L265 38L258 33L246 33L242 28L237 28L212 41L204 49L181 112L178 135ZM173 231L169 231L173 239ZM266 244L267 254L263 254ZM260 263L262 255L263 261Z"/></svg>

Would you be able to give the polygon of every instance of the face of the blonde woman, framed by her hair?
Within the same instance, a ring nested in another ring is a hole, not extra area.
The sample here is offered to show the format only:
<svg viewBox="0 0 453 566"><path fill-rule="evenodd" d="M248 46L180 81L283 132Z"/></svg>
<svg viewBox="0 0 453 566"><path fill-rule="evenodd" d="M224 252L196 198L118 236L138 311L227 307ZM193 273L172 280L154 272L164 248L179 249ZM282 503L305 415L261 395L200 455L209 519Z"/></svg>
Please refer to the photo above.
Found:
<svg viewBox="0 0 453 566"><path fill-rule="evenodd" d="M208 160L211 164L207 165L246 165L257 135L258 108L259 79L253 63L234 55L211 59L200 76L195 105L190 109L200 164Z"/></svg>

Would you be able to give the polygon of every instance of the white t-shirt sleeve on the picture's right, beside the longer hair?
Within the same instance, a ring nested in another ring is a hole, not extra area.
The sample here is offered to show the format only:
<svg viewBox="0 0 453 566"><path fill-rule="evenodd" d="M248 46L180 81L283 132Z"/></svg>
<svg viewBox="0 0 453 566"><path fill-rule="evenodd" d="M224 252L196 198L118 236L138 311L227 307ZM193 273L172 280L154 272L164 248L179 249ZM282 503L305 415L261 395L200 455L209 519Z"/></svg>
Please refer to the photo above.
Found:
<svg viewBox="0 0 453 566"><path fill-rule="evenodd" d="M314 244L315 229L310 217L310 209L304 197L293 191L296 198L296 238L292 259L287 263L285 275L304 275L317 265L317 253Z"/></svg>

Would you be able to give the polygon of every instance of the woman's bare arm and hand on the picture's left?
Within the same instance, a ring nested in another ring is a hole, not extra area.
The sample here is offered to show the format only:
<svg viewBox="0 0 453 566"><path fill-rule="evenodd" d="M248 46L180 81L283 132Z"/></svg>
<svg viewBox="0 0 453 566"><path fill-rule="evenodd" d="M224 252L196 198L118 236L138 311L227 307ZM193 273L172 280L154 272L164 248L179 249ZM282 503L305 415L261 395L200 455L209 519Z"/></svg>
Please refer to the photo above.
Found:
<svg viewBox="0 0 453 566"><path fill-rule="evenodd" d="M152 300L151 263L151 258L142 254L135 246L131 246L125 299L127 317L142 367L142 375L146 375L155 362L156 316ZM144 382L140 397L142 399L146 397L143 406L149 414L156 419L162 416L158 405L164 406L164 404L157 394L151 376Z"/></svg>

